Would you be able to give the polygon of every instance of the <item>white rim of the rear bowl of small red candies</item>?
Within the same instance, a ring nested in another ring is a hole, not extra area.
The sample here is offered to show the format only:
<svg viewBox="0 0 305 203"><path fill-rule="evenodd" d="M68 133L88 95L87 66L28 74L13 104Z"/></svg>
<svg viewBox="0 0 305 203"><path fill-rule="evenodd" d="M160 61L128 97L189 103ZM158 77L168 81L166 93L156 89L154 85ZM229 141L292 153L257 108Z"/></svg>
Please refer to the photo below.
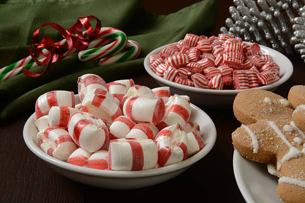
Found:
<svg viewBox="0 0 305 203"><path fill-rule="evenodd" d="M246 41L243 41L244 43L247 43L247 44L250 44L251 42L246 42ZM172 43L171 43L172 44ZM167 84L167 85L170 85L172 86L173 88L176 88L176 89L183 89L185 91L190 91L190 92L194 92L194 93L204 93L204 94L217 94L217 95L236 95L237 93L243 91L243 90L211 90L211 89L203 89L203 88L196 88L196 87L189 87L189 86L185 86L185 85L181 85L181 84L177 84L177 83L174 83L174 82L171 82L169 80L166 80L162 77L159 77L158 75L156 75L152 69L150 68L149 66L149 57L153 54L157 54L159 53L163 48L165 48L168 44L166 45L163 45L159 48L156 48L154 50L152 50L144 59L144 68L145 70L149 73L150 76L152 76L152 78L154 78L155 80L157 81L160 81L164 84ZM272 48L269 48L269 47L266 47L266 46L263 46L263 45L260 45L259 46L263 49L266 49L270 52L275 52L276 54L279 54L280 56L279 57L283 57L286 62L289 64L289 68L286 69L286 72L285 74L280 78L280 80L278 80L277 82L273 83L273 84L270 84L270 85L266 85L266 86L261 86L261 87L258 87L258 88L253 88L253 89L261 89L261 90L270 90L270 89L273 89L273 88L277 88L279 87L280 85L282 85L283 83L285 83L287 80L289 80L289 78L292 76L293 74L293 64L291 63L291 61L284 55L282 54L281 52L279 51L276 51Z"/></svg>

